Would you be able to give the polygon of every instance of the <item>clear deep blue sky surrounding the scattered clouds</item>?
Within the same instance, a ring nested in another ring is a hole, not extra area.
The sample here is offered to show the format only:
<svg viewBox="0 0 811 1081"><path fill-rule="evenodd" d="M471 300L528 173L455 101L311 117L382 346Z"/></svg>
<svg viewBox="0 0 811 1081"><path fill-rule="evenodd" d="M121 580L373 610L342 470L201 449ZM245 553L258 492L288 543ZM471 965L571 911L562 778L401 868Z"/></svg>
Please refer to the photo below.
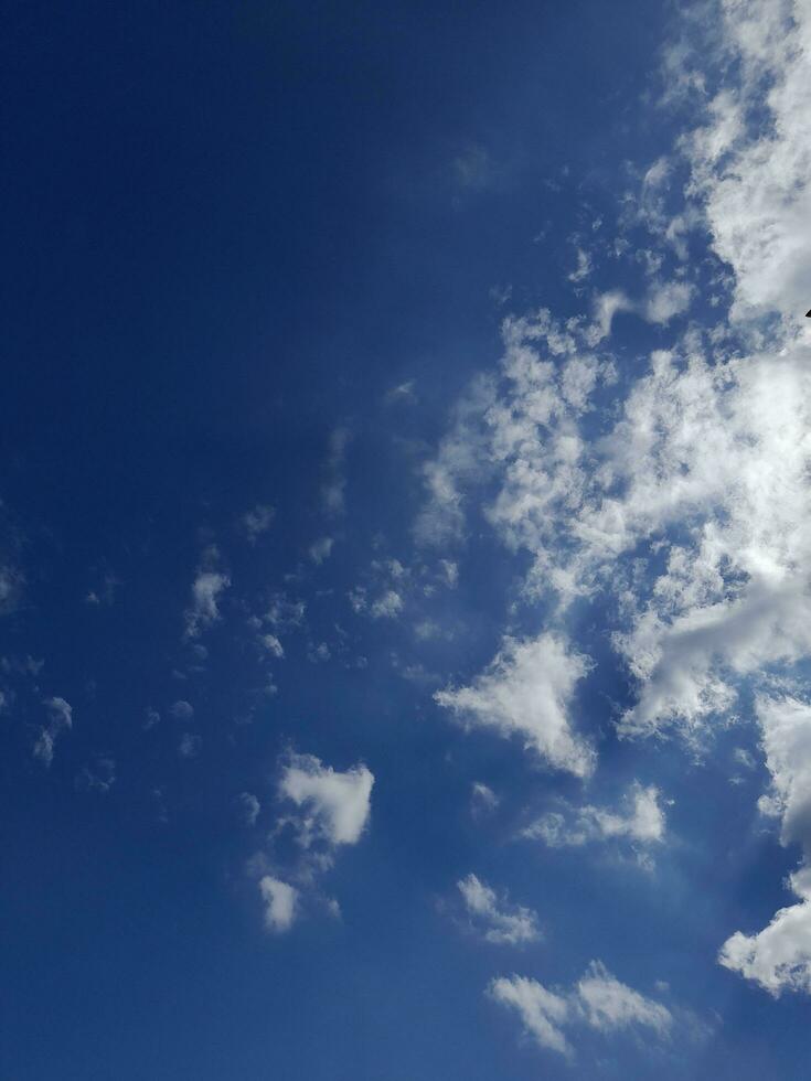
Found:
<svg viewBox="0 0 811 1081"><path fill-rule="evenodd" d="M647 993L666 978L713 1035L653 1058L587 1035L580 1068L804 1075L808 1007L714 963L730 928L786 902L796 854L757 833L762 778L733 788L728 769L675 748L620 753L610 721L628 688L608 671L584 689L607 763L591 798L616 799L655 761L673 833L692 839L655 878L516 842L533 801L578 785L448 724L436 684L393 667L393 653L409 660L402 630L361 627L345 603L381 553L406 559L419 462L501 352L491 290L509 283L516 310L580 310L565 238L601 213L628 160L672 140L639 108L669 19L647 0L4 6L0 554L25 590L0 655L45 665L34 693L7 674L13 716L0 718L0 1077L585 1077L522 1043L482 991L512 971L567 985L595 956ZM466 181L458 162L482 151ZM655 329L634 335L655 344ZM385 408L406 381L419 409ZM320 491L341 426L335 524ZM257 503L276 518L252 547L237 524ZM328 532L332 559L308 566ZM308 591L312 640L338 621L369 666L313 665L301 642L256 706L234 601L190 674L182 613L209 543L235 592ZM107 572L115 603L83 603ZM493 655L515 575L472 538L459 592L437 601L465 628L431 646L444 679ZM537 613L522 618L538 630ZM607 651L599 632L590 645ZM30 748L51 695L72 703L74 729L44 771ZM193 761L177 754L177 699L195 707ZM148 707L162 720L145 731ZM342 921L273 939L234 798L259 793L269 828L290 743L339 769L364 760L373 814L330 873ZM105 752L114 790L77 790ZM485 823L468 814L479 779L503 793ZM460 933L442 899L471 870L536 908L545 941L515 956Z"/></svg>

